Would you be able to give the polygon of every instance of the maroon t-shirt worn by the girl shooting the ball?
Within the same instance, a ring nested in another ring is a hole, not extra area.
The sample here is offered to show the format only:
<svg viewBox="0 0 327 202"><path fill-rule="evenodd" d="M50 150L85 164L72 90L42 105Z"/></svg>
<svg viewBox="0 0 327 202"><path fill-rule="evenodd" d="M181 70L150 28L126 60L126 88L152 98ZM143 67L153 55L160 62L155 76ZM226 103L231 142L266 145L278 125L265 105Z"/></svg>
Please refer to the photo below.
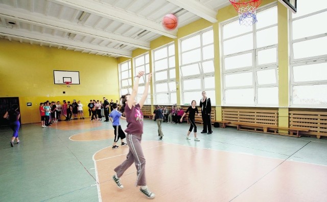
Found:
<svg viewBox="0 0 327 202"><path fill-rule="evenodd" d="M125 116L127 121L127 129L125 132L128 134L137 134L141 136L143 133L143 114L139 104L136 104L135 107L132 106L131 109L126 104Z"/></svg>

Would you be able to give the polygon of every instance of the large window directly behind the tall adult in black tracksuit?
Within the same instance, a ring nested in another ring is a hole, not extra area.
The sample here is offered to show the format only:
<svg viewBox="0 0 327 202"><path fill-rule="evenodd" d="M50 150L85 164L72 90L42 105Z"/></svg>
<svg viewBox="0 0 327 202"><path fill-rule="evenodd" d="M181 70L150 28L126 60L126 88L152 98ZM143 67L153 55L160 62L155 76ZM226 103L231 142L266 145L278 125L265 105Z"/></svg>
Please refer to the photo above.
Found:
<svg viewBox="0 0 327 202"><path fill-rule="evenodd" d="M213 29L201 31L181 40L181 104L197 104L205 91L216 105Z"/></svg>

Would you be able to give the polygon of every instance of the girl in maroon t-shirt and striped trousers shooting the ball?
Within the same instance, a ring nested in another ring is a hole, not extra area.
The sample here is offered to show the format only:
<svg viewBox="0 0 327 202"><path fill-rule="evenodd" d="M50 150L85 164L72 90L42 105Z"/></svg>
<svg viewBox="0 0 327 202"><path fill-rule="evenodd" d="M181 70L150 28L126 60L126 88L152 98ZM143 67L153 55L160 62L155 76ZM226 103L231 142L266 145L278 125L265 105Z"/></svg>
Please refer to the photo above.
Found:
<svg viewBox="0 0 327 202"><path fill-rule="evenodd" d="M155 196L152 193L146 184L145 178L145 157L143 154L143 149L141 146L142 141L142 133L143 133L143 114L141 108L148 97L148 90L150 85L150 79L152 74L148 75L148 79L146 81L146 85L144 88L144 93L141 99L136 103L136 95L138 89L138 82L141 77L143 77L144 72L138 72L135 76L135 81L132 89L132 94L123 95L121 97L121 104L122 108L124 109L126 121L127 121L127 129L125 132L126 135L126 142L129 146L129 152L127 154L126 160L119 166L117 166L114 171L116 172L115 175L112 176L113 181L116 185L123 189L124 186L120 181L120 177L124 174L124 172L133 164L135 163L135 167L137 170L137 177L136 177L136 186L141 186L139 191L146 195L148 198L153 198Z"/></svg>

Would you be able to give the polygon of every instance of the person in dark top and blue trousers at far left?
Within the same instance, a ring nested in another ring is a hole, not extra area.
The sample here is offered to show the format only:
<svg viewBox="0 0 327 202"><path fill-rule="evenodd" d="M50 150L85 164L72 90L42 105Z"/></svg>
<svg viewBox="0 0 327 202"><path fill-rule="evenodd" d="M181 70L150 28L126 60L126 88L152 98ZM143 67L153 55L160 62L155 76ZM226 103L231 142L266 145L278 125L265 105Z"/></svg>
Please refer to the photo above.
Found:
<svg viewBox="0 0 327 202"><path fill-rule="evenodd" d="M19 144L19 139L18 139L18 129L20 126L19 123L19 117L20 113L18 110L18 105L14 104L12 105L11 109L6 112L4 118L9 120L9 125L11 129L14 131L11 141L10 141L10 146L14 146L14 140L16 139L16 144Z"/></svg>

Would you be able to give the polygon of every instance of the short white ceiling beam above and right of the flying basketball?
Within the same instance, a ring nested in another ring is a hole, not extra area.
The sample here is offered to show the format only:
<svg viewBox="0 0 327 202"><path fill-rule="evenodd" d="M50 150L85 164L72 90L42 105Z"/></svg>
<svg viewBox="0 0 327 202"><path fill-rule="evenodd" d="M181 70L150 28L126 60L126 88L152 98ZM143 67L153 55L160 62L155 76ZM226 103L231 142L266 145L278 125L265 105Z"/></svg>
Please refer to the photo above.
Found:
<svg viewBox="0 0 327 202"><path fill-rule="evenodd" d="M209 9L198 1L190 1L190 0L166 0L176 6L183 8L185 10L190 11L191 13L202 17L210 21L211 23L217 23L217 12Z"/></svg>

